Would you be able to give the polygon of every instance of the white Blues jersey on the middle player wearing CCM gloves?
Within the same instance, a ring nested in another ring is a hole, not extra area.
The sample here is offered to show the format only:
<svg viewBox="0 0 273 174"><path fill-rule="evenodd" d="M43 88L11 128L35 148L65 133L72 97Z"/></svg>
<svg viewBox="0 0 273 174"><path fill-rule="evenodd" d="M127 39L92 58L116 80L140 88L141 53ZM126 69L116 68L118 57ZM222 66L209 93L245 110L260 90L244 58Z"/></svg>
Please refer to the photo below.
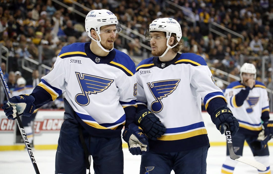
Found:
<svg viewBox="0 0 273 174"><path fill-rule="evenodd" d="M202 57L183 53L169 62L151 57L138 64L135 76L137 104L147 105L167 129L157 141L149 141L150 149L175 152L209 144L201 98L207 108L210 100L224 95Z"/></svg>

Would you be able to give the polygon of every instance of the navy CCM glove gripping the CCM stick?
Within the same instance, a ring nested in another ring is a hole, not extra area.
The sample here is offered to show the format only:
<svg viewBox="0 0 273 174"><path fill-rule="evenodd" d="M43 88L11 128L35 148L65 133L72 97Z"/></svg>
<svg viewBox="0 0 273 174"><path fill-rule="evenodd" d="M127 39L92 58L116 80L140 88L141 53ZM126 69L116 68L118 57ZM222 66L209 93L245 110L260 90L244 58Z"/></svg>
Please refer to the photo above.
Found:
<svg viewBox="0 0 273 174"><path fill-rule="evenodd" d="M228 125L230 129L230 133L232 136L236 134L239 129L239 122L233 116L231 110L228 107L217 110L213 116L215 116L215 125L216 128L221 132L221 134L225 133L224 125Z"/></svg>

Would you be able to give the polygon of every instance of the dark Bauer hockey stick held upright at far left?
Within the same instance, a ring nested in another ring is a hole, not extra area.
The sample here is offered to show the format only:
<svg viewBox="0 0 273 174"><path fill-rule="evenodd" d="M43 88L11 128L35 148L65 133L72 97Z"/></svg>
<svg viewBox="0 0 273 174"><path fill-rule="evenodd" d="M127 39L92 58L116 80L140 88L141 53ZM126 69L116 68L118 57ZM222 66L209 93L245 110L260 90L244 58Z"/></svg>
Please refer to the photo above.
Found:
<svg viewBox="0 0 273 174"><path fill-rule="evenodd" d="M5 80L5 77L4 77L4 74L3 74L3 71L1 69L1 67L0 67L0 74L1 74L0 79L1 79L4 91L6 93L6 96L7 96L7 98L11 98L11 93L10 93L10 90L8 89L8 85L7 85L7 82ZM18 116L18 113L16 113L15 120L17 122L17 126L18 126L18 128L20 130L20 133L22 135L22 138L23 138L23 141L25 143L26 149L28 150L28 155L29 155L29 157L31 159L32 165L34 167L34 170L35 170L36 174L40 174L38 166L37 166L36 161L35 161L35 158L33 156L33 153L32 153L32 150L31 150L28 138L26 137L25 129L24 129L23 125L22 125L20 117Z"/></svg>

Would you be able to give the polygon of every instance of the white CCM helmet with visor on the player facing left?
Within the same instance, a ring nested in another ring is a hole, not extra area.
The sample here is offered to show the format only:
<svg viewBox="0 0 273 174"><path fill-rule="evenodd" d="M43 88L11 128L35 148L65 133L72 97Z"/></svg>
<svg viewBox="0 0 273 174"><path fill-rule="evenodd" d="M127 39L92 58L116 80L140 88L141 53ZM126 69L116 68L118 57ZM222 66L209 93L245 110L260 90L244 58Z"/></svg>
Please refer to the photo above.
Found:
<svg viewBox="0 0 273 174"><path fill-rule="evenodd" d="M160 31L160 32L165 32L166 33L166 38L167 38L167 49L166 51L159 57L163 57L170 48L175 47L178 42L180 41L181 37L182 37L182 32L181 32L181 27L180 24L173 18L158 18L156 20L154 20L150 26L149 29L147 29L146 33L145 33L145 39L146 40L151 40L151 35L150 32L153 31ZM176 34L176 39L177 39L177 43L173 46L170 46L168 44L169 39L171 37L171 33Z"/></svg>

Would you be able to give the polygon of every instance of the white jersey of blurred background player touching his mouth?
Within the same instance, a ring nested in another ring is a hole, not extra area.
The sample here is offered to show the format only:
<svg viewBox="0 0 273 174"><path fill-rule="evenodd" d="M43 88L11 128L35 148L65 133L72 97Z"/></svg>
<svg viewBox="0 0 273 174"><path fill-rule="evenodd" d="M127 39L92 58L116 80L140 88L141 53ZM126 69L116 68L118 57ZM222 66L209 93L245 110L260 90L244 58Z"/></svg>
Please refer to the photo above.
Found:
<svg viewBox="0 0 273 174"><path fill-rule="evenodd" d="M265 85L256 80L256 84L249 91L243 105L236 104L235 95L242 89L246 89L239 81L230 83L225 89L224 96L227 99L227 106L233 115L238 119L240 128L253 131L262 130L261 116L265 111L269 112L269 100ZM240 129L239 129L240 130Z"/></svg>

